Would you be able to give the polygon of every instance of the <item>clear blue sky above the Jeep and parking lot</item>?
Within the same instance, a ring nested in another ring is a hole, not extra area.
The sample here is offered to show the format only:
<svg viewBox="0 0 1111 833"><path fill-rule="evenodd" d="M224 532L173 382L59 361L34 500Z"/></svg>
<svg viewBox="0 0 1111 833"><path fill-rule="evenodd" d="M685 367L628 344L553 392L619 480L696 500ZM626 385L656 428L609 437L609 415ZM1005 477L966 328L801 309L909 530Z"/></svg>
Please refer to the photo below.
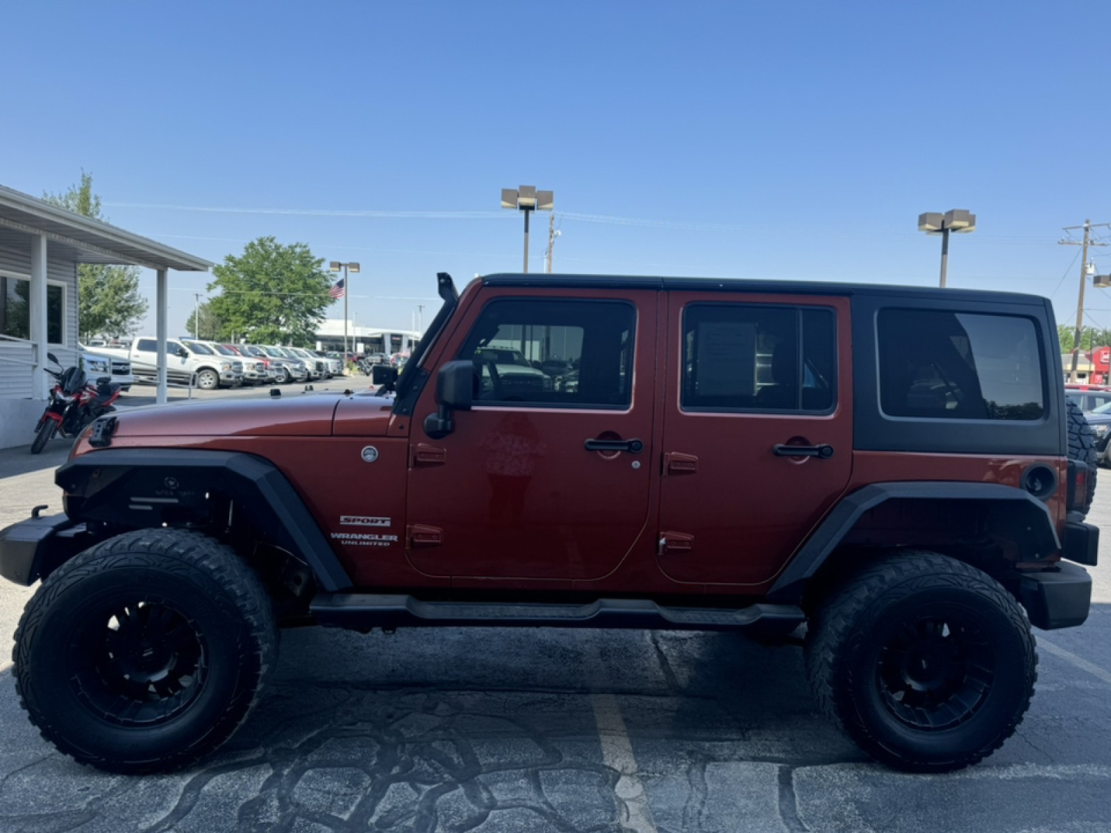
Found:
<svg viewBox="0 0 1111 833"><path fill-rule="evenodd" d="M111 221L209 260L273 234L360 261L360 324L408 328L418 303L427 323L438 271L519 271L499 209L519 184L556 192L556 270L587 273L934 285L918 214L967 208L950 285L1049 295L1069 323L1061 228L1111 222L1105 1L116 0L4 21L0 183L84 169ZM1111 248L1094 260L1111 272ZM171 275L171 332L208 280ZM1111 327L1111 298L1088 305Z"/></svg>

